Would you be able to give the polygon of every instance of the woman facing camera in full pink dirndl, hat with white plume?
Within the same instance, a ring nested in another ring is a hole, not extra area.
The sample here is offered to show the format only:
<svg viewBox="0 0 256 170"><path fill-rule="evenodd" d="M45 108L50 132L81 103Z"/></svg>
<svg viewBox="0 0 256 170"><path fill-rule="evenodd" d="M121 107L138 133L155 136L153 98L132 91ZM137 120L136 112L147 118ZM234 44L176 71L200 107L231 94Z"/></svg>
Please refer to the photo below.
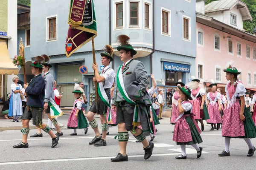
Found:
<svg viewBox="0 0 256 170"><path fill-rule="evenodd" d="M212 80L211 80L212 81ZM221 94L216 91L217 84L212 81L212 83L209 85L209 87L212 89L211 92L207 94L207 108L208 113L210 116L210 119L208 119L206 122L212 125L212 128L210 130L215 129L215 124L217 123L217 130L220 129L220 125L222 123L221 120Z"/></svg>

